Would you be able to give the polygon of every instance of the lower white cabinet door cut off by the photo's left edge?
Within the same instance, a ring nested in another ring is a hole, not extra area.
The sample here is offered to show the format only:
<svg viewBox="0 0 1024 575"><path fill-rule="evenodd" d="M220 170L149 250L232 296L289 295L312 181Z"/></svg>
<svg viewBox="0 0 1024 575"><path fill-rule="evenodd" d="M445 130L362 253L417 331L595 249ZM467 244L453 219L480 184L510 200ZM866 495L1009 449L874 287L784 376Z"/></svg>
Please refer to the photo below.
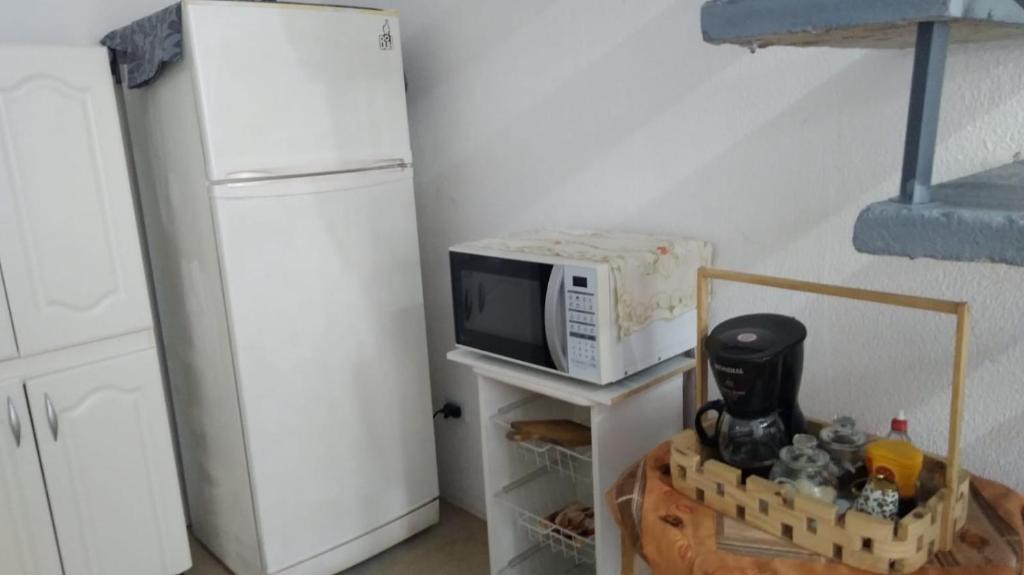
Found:
<svg viewBox="0 0 1024 575"><path fill-rule="evenodd" d="M0 573L60 575L22 382L0 382Z"/></svg>

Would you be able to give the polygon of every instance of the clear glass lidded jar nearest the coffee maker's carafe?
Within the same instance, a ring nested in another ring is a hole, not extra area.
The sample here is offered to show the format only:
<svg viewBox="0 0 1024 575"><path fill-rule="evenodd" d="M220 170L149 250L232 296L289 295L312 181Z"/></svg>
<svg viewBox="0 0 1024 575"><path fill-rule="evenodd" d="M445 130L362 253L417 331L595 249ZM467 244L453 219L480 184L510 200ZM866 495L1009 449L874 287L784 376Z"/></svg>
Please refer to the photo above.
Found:
<svg viewBox="0 0 1024 575"><path fill-rule="evenodd" d="M829 469L828 453L818 449L813 435L797 434L793 445L783 447L772 466L770 479L787 487L783 496L809 495L829 503L836 500L836 476Z"/></svg>

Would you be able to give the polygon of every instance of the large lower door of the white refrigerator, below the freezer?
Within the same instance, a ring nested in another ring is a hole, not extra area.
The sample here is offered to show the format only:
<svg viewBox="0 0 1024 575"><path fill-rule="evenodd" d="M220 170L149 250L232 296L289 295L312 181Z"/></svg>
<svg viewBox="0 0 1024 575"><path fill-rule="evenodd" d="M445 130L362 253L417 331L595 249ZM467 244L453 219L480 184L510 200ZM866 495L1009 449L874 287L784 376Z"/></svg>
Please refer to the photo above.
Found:
<svg viewBox="0 0 1024 575"><path fill-rule="evenodd" d="M437 497L412 172L212 189L268 573Z"/></svg>

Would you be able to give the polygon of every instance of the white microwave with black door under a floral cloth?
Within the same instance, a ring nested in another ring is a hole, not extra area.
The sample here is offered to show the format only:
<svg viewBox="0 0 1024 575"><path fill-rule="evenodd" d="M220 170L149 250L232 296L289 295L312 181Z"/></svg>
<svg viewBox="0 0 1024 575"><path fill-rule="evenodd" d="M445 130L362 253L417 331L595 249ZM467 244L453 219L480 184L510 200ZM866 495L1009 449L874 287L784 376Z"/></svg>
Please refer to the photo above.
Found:
<svg viewBox="0 0 1024 575"><path fill-rule="evenodd" d="M607 385L696 345L695 309L620 338L607 263L472 245L449 261L458 347Z"/></svg>

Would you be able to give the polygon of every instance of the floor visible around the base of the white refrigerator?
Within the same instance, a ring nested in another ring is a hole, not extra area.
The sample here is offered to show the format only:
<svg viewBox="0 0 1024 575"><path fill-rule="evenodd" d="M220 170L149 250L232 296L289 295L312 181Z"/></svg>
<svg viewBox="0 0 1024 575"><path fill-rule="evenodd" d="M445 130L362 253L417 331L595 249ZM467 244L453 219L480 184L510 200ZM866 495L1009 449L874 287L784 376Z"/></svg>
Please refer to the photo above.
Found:
<svg viewBox="0 0 1024 575"><path fill-rule="evenodd" d="M229 575L195 540L187 575ZM438 525L345 571L345 575L483 575L487 573L487 527L472 515L441 503Z"/></svg>

